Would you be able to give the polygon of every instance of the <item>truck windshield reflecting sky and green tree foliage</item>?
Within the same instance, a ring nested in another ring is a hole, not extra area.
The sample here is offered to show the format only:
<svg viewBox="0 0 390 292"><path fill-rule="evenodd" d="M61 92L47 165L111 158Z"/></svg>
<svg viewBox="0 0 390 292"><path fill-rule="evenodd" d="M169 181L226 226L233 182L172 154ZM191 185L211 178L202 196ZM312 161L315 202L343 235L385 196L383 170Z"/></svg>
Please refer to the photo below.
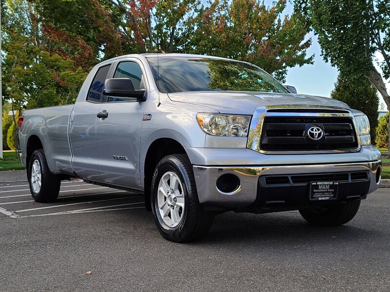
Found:
<svg viewBox="0 0 390 292"><path fill-rule="evenodd" d="M246 63L159 56L158 68L157 57L148 57L147 60L159 91L164 93L211 90L289 93L271 75Z"/></svg>

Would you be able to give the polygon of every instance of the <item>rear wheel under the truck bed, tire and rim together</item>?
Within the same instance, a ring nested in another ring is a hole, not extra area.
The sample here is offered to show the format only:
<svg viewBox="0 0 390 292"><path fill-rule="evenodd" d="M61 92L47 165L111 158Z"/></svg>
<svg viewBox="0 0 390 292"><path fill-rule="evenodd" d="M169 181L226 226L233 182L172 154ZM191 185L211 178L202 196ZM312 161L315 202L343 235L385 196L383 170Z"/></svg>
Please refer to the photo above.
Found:
<svg viewBox="0 0 390 292"><path fill-rule="evenodd" d="M31 155L28 182L35 201L45 203L57 200L61 180L50 172L43 149L35 150Z"/></svg>

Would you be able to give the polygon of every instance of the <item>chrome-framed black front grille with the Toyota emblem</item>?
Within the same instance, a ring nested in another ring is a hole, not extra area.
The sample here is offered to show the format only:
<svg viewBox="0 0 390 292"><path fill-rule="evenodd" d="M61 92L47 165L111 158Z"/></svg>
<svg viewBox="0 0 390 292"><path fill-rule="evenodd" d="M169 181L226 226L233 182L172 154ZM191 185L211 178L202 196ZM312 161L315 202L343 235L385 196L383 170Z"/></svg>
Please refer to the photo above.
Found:
<svg viewBox="0 0 390 292"><path fill-rule="evenodd" d="M359 140L348 110L257 108L248 148L266 154L351 152L359 149Z"/></svg>

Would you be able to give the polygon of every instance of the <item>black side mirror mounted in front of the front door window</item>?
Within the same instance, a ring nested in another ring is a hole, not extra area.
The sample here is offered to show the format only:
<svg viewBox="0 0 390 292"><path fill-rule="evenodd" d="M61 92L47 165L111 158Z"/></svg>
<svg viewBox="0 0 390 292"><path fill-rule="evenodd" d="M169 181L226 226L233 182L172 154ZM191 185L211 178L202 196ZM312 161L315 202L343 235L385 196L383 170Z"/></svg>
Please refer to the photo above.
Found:
<svg viewBox="0 0 390 292"><path fill-rule="evenodd" d="M109 78L104 82L103 95L114 97L133 97L138 101L146 100L146 90L135 90L129 78Z"/></svg>

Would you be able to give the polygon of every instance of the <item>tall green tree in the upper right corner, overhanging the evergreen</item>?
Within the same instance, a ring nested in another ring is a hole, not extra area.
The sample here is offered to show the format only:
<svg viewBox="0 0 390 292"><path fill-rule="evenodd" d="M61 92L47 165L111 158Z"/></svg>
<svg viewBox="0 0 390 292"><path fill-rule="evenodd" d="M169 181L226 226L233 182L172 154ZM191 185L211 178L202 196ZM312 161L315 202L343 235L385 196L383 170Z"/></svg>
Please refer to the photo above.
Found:
<svg viewBox="0 0 390 292"><path fill-rule="evenodd" d="M325 60L351 79L369 80L390 110L390 0L296 0L295 11L318 36Z"/></svg>

